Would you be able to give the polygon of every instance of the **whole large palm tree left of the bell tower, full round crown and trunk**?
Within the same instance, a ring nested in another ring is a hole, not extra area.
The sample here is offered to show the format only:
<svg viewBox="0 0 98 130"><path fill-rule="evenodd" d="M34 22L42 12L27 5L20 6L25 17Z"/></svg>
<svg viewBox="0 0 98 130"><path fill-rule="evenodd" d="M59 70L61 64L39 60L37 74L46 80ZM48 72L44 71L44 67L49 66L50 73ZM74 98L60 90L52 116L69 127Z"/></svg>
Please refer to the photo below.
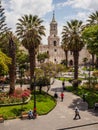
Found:
<svg viewBox="0 0 98 130"><path fill-rule="evenodd" d="M45 27L42 25L43 20L38 18L37 15L32 16L24 15L21 19L18 19L17 23L17 35L21 39L22 45L28 50L30 61L30 81L32 84L32 78L34 76L35 55L36 50L41 42L41 36L45 35ZM31 89L33 89L31 85Z"/></svg>

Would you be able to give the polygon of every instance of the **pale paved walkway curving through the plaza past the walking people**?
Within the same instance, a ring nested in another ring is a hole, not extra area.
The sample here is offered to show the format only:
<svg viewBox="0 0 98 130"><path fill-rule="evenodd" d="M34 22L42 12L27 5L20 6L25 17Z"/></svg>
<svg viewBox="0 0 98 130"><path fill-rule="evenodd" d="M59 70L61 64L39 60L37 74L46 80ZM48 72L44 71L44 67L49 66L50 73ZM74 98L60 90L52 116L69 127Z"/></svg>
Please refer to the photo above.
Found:
<svg viewBox="0 0 98 130"><path fill-rule="evenodd" d="M54 94L55 90L60 95L61 81L56 80L49 93ZM70 92L64 92L64 95L64 101L58 99L57 106L49 114L35 120L7 120L0 124L0 130L98 130L98 113L88 110L87 104L78 96ZM73 120L76 105L80 108L79 120Z"/></svg>

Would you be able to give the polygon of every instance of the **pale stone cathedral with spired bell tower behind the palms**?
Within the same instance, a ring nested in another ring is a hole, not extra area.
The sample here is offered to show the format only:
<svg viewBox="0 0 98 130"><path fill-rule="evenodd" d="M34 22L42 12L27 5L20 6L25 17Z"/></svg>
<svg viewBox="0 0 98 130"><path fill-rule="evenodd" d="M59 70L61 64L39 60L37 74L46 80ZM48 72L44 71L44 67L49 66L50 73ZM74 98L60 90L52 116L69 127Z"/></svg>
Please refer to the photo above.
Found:
<svg viewBox="0 0 98 130"><path fill-rule="evenodd" d="M58 36L58 23L55 20L55 14L53 13L52 20L50 22L50 35L48 36L48 44L39 46L39 53L47 52L49 54L48 62L55 64L61 63L65 60L64 50L61 48L60 37ZM90 58L86 47L84 47L79 53L79 64L83 64L83 58ZM73 64L72 52L68 51L68 65Z"/></svg>

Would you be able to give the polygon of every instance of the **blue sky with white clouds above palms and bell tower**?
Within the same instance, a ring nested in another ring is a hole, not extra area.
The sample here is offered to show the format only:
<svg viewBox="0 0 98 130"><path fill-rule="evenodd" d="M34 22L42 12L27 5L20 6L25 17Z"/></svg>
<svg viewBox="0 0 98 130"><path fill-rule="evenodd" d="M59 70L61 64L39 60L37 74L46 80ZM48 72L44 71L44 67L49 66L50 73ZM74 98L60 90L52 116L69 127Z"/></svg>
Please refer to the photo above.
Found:
<svg viewBox="0 0 98 130"><path fill-rule="evenodd" d="M16 30L18 19L24 14L38 15L44 20L46 37L42 43L47 44L49 27L55 11L55 20L58 23L58 35L61 37L63 26L72 19L86 22L88 16L98 11L98 0L1 0L5 9L7 26Z"/></svg>

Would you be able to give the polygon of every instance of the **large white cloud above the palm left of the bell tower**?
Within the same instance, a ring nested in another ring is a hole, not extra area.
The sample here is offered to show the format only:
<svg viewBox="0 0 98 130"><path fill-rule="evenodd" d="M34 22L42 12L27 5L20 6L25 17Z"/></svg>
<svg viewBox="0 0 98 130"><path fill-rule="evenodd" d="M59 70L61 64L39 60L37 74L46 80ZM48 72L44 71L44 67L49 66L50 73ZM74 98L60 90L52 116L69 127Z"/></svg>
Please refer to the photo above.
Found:
<svg viewBox="0 0 98 130"><path fill-rule="evenodd" d="M14 31L18 18L24 14L43 17L53 9L52 0L3 0L2 5L5 9L7 25Z"/></svg>

